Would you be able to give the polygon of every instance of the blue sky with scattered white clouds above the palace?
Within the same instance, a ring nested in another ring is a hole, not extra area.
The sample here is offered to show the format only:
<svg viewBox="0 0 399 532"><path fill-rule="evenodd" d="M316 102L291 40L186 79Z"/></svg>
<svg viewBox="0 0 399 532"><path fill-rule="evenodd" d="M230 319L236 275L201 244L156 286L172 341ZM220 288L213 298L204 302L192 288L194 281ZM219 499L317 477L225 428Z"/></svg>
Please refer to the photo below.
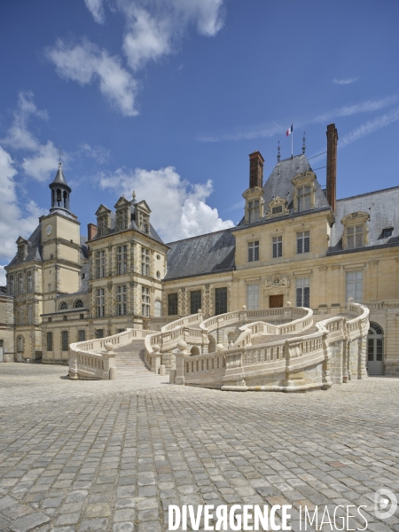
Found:
<svg viewBox="0 0 399 532"><path fill-rule="evenodd" d="M234 226L248 154L267 178L291 124L322 185L336 124L338 198L398 185L398 16L396 0L3 0L0 285L49 212L59 149L83 235L133 190L165 242Z"/></svg>

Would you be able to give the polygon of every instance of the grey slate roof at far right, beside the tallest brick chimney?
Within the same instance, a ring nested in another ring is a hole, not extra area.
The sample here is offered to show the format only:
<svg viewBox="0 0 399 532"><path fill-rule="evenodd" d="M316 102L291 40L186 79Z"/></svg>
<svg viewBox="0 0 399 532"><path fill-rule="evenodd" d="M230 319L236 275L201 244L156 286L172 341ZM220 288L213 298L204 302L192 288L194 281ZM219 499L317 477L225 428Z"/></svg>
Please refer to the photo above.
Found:
<svg viewBox="0 0 399 532"><path fill-rule="evenodd" d="M399 186L395 186L337 200L329 252L342 250L343 226L340 221L344 216L357 211L370 215L370 220L367 222L369 229L367 247L399 245ZM391 237L384 239L383 230L387 227L393 227L394 231Z"/></svg>

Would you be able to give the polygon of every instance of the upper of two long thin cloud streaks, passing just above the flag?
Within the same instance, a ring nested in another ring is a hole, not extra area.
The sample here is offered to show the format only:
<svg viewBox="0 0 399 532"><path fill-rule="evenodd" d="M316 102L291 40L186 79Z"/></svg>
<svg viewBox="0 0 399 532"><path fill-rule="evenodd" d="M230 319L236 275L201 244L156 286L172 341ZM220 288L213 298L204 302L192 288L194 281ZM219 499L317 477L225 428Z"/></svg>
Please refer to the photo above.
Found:
<svg viewBox="0 0 399 532"><path fill-rule="evenodd" d="M342 106L326 113L316 114L306 119L297 119L293 121L293 129L301 129L309 124L328 123L329 121L337 118L343 118L361 113L372 113L383 109L384 107L393 106L399 100L399 95L394 94L386 98L378 98L374 100L367 100L360 104L353 104L351 106ZM279 119L280 123L287 123L289 121L285 119ZM242 140L253 139L259 137L274 137L275 135L281 135L281 128L274 122L267 122L262 124L255 124L247 128L237 128L231 133L221 132L216 134L200 134L197 139L200 142L221 142L228 140Z"/></svg>

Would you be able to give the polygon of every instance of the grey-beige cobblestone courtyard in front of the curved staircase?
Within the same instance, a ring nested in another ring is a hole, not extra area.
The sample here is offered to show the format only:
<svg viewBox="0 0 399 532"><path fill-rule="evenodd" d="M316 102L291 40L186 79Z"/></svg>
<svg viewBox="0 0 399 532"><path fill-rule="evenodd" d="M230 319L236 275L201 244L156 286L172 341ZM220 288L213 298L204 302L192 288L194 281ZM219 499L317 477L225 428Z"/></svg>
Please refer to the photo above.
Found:
<svg viewBox="0 0 399 532"><path fill-rule="evenodd" d="M236 394L66 372L0 364L2 532L160 532L168 505L236 503L293 505L293 529L300 505L367 505L367 530L399 532L372 512L399 493L399 379Z"/></svg>

